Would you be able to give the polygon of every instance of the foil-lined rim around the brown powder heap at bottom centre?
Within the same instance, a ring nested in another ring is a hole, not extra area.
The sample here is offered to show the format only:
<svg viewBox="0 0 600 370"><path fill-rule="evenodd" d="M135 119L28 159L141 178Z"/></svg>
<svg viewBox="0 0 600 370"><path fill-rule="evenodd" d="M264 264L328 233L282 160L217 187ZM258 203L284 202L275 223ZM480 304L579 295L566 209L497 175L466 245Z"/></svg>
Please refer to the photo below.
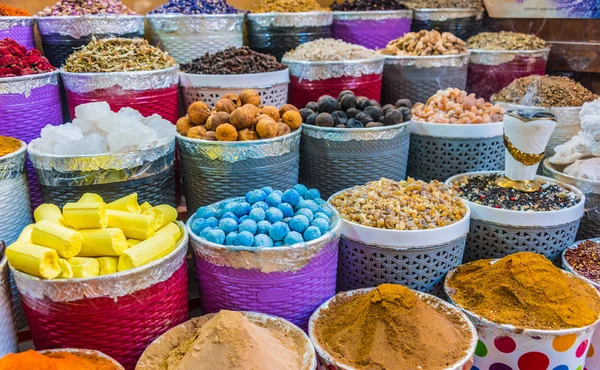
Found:
<svg viewBox="0 0 600 370"><path fill-rule="evenodd" d="M317 356L320 360L320 367L318 370L349 370L353 369L353 367L349 365L345 365L335 360L335 357L328 353L319 342L319 336L317 335L316 325L318 320L321 318L321 314L323 311L329 309L329 305L332 302L335 302L339 299L344 299L345 297L352 297L355 295L364 295L373 290L374 288L366 288L366 289L357 289L351 290L349 292L338 293L335 297L331 298L327 302L323 303L310 317L310 323L308 327L308 335L312 341L315 350L317 351ZM455 364L451 364L444 368L444 370L467 370L471 368L473 364L473 356L475 355L475 348L477 347L477 332L473 324L469 321L466 315L462 314L457 308L452 306L451 304L434 297L429 294L414 292L417 294L424 302L433 306L434 308L440 311L446 311L453 314L458 314L460 317L460 323L455 323L456 325L464 325L468 327L468 330L471 334L471 341L469 345L469 349L465 356L458 360ZM454 317L454 316L453 316ZM366 335L367 333L365 333ZM359 338L356 338L358 340ZM481 368L486 369L486 368ZM516 369L516 367L515 367ZM503 370L503 369L501 369Z"/></svg>

